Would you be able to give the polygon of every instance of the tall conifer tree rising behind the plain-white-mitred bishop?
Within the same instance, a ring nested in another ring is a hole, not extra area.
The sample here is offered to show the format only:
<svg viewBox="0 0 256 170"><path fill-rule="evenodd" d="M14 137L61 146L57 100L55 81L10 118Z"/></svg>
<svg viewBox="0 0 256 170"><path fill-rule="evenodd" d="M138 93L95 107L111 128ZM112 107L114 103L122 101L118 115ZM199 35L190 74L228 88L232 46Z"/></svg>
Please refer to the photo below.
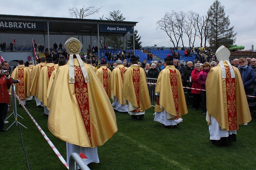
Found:
<svg viewBox="0 0 256 170"><path fill-rule="evenodd" d="M225 16L224 6L221 5L221 2L218 0L215 0L210 6L208 14L210 21L210 35L208 36L208 39L213 47L217 49L221 46L221 40L234 39L237 33L234 33L234 26L229 28L229 17Z"/></svg>

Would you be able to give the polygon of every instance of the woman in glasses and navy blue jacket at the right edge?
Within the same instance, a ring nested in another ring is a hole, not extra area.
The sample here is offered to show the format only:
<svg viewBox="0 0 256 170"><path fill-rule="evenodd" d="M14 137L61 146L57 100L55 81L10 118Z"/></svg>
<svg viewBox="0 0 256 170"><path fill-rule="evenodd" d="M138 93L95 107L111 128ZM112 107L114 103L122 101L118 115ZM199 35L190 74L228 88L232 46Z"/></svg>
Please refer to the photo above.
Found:
<svg viewBox="0 0 256 170"><path fill-rule="evenodd" d="M253 96L253 83L255 81L255 73L251 67L246 64L245 58L239 58L239 70L244 85L244 91L246 95ZM247 97L247 100L252 100L251 97Z"/></svg>

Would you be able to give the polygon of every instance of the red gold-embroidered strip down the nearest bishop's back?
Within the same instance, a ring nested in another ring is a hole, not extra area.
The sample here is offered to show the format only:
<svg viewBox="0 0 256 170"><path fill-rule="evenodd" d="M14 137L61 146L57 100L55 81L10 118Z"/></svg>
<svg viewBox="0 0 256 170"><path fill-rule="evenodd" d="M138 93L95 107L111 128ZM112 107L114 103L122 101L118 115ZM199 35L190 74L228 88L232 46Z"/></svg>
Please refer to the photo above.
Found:
<svg viewBox="0 0 256 170"><path fill-rule="evenodd" d="M74 70L75 70L75 83L74 83L75 96L80 108L81 116L84 121L84 126L86 129L87 135L91 143L88 87L87 87L87 83L85 83L81 67L74 66Z"/></svg>

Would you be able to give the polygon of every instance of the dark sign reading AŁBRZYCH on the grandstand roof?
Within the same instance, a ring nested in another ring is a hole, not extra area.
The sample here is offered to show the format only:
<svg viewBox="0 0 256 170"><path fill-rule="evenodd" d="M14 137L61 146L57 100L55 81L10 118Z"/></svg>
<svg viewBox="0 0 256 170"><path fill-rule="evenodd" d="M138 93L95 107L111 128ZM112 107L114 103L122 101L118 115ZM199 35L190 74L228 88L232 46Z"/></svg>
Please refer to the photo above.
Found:
<svg viewBox="0 0 256 170"><path fill-rule="evenodd" d="M46 22L26 22L26 21L8 21L0 20L0 29L33 29L44 30Z"/></svg>

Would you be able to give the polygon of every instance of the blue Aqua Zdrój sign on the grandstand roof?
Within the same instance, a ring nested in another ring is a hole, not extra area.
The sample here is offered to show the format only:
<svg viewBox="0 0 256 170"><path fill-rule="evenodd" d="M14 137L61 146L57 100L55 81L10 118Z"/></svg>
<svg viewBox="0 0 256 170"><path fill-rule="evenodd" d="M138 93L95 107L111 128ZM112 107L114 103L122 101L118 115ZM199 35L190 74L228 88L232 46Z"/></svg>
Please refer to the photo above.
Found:
<svg viewBox="0 0 256 170"><path fill-rule="evenodd" d="M100 32L132 33L132 26L100 25Z"/></svg>

